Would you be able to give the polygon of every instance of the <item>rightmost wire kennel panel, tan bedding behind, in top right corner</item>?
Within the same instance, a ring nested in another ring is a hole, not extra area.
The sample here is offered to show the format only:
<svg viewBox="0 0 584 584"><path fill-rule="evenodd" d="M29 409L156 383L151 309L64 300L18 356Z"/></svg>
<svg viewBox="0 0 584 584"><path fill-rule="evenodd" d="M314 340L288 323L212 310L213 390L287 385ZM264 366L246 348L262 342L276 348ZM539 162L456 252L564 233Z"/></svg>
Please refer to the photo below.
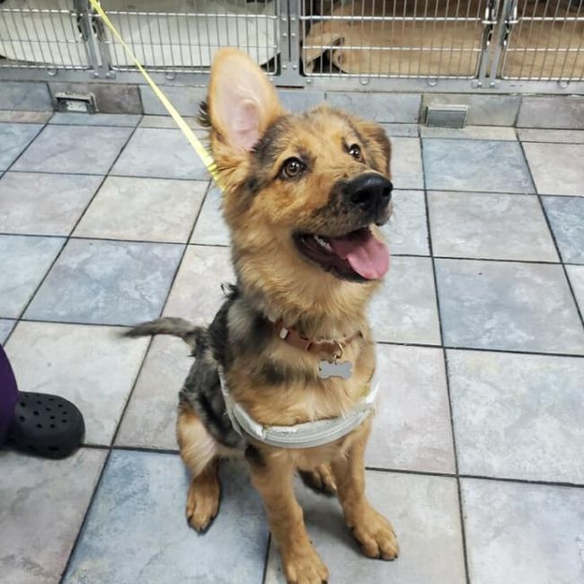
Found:
<svg viewBox="0 0 584 584"><path fill-rule="evenodd" d="M584 80L584 0L515 0L500 75Z"/></svg>

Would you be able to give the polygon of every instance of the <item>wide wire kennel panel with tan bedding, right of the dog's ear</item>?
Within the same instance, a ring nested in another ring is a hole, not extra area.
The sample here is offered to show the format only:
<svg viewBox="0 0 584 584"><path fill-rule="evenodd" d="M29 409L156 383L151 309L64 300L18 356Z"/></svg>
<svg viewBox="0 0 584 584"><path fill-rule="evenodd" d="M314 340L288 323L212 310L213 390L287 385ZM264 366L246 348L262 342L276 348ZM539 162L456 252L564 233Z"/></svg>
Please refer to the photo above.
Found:
<svg viewBox="0 0 584 584"><path fill-rule="evenodd" d="M477 73L488 0L304 0L305 75L456 77Z"/></svg>

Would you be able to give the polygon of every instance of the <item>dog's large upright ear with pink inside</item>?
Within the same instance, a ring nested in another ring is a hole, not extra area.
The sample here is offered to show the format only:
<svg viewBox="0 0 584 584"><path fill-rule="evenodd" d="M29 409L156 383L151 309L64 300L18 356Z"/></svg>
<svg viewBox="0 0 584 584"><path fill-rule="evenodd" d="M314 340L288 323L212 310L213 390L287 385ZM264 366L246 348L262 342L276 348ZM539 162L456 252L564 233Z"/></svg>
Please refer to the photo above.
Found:
<svg viewBox="0 0 584 584"><path fill-rule="evenodd" d="M237 49L221 49L211 67L208 115L220 140L233 151L249 151L282 108L261 68Z"/></svg>

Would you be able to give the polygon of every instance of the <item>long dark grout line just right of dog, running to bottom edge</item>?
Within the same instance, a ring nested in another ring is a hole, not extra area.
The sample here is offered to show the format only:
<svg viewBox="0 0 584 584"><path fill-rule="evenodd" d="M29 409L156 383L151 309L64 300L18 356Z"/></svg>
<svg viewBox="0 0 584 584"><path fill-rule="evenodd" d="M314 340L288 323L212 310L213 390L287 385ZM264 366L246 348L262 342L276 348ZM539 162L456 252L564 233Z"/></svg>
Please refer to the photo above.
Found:
<svg viewBox="0 0 584 584"><path fill-rule="evenodd" d="M452 395L450 392L450 378L448 375L448 359L447 359L447 350L444 348L444 327L442 325L442 316L440 312L440 295L438 291L438 278L436 274L436 260L434 258L434 248L432 245L432 231L430 225L430 213L429 213L429 199L428 199L428 190L427 190L427 183L426 183L426 172L424 169L424 144L423 140L420 141L420 156L421 156L421 164L422 164L422 179L424 181L424 203L426 206L426 228L428 230L428 246L429 246L429 254L432 260L432 275L434 277L434 294L436 296L436 305L437 305L437 313L438 313L438 328L440 332L440 345L442 350L442 358L444 362L444 374L446 377L446 387L447 387L447 398L448 398L448 413L450 415L450 435L452 438L452 449L453 455L455 459L455 471L456 471L456 491L458 496L458 518L460 522L460 533L462 538L463 544L463 558L465 561L465 580L466 584L471 584L470 579L470 571L468 567L468 553L466 551L466 534L465 534L465 515L463 510L463 497L462 497L462 490L460 486L460 477L458 476L458 451L456 448L456 431L455 431L455 421L454 421L454 413L452 408Z"/></svg>

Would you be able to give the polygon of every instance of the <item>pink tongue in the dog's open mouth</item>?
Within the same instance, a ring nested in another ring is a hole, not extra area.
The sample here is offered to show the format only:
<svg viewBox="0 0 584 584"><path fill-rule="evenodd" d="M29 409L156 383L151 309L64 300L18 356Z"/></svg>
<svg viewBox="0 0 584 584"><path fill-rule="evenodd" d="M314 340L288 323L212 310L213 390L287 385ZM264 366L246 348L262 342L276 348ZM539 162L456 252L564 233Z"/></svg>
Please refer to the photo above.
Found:
<svg viewBox="0 0 584 584"><path fill-rule="evenodd" d="M344 237L329 239L332 250L359 276L366 279L378 279L389 268L389 252L385 243L377 240L368 229L359 229Z"/></svg>

